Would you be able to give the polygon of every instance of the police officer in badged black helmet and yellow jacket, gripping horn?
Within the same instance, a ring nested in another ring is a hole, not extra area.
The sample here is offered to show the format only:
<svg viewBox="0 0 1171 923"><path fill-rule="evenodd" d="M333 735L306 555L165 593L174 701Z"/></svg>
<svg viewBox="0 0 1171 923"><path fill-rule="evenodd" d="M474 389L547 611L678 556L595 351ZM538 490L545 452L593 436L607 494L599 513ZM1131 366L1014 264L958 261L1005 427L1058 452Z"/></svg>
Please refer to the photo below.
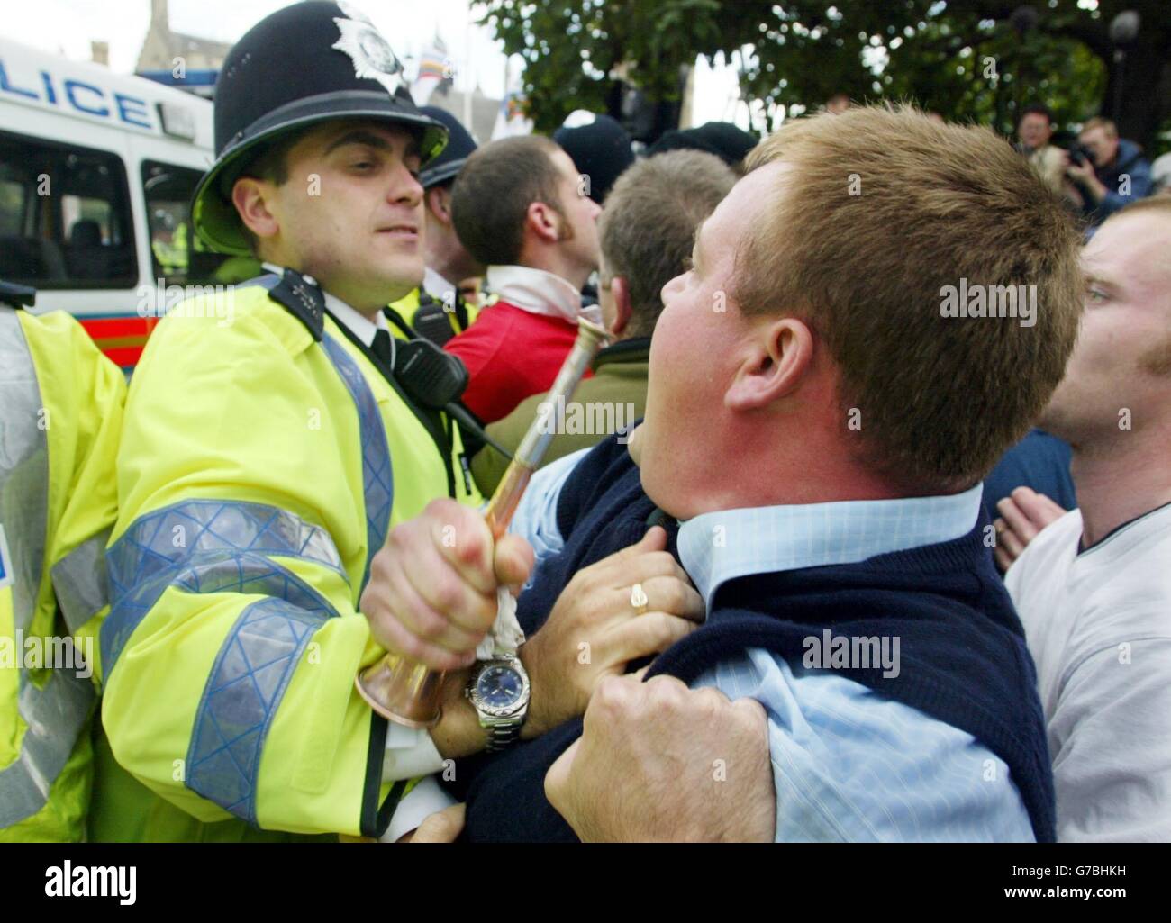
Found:
<svg viewBox="0 0 1171 923"><path fill-rule="evenodd" d="M196 231L269 272L178 306L135 374L102 719L117 763L170 807L125 811L107 834L376 836L441 758L355 691L390 645L389 620L362 604L371 561L425 510L437 548L445 518L486 531L457 504L480 501L458 430L396 372L404 344L383 313L422 280L418 172L446 130L344 0L295 4L245 34L214 117ZM504 542L493 559L488 541L461 546L488 551L464 561L482 592L454 604L479 635L495 579L528 566L501 563ZM471 661L466 638L451 648L452 664ZM105 791L133 801L117 780Z"/></svg>

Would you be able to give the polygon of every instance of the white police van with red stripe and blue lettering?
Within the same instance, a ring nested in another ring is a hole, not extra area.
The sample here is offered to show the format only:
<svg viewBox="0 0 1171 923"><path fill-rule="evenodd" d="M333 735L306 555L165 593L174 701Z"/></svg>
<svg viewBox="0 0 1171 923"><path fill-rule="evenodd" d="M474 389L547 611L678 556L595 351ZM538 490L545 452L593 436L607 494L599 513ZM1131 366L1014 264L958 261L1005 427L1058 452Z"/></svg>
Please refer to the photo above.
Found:
<svg viewBox="0 0 1171 923"><path fill-rule="evenodd" d="M191 228L212 135L206 98L0 40L0 279L132 368L164 292L255 275Z"/></svg>

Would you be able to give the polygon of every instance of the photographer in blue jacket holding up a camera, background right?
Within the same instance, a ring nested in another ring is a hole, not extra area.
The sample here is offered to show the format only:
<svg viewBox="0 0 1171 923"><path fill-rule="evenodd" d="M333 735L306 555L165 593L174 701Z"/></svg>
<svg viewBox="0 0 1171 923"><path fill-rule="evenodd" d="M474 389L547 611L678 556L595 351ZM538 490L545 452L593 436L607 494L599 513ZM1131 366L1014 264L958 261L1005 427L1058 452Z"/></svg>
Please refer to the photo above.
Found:
<svg viewBox="0 0 1171 923"><path fill-rule="evenodd" d="M1066 155L1066 176L1077 186L1082 214L1100 225L1135 199L1151 194L1151 165L1108 118L1091 118Z"/></svg>

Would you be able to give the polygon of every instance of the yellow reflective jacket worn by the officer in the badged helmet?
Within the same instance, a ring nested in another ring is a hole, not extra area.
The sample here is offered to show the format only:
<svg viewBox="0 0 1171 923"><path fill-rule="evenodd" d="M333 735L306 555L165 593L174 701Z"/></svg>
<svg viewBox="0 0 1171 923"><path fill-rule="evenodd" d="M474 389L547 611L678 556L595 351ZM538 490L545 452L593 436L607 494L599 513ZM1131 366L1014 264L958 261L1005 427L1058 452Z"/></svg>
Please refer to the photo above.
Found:
<svg viewBox="0 0 1171 923"><path fill-rule="evenodd" d="M102 719L122 766L217 828L143 839L371 836L408 788L354 689L383 654L358 600L391 526L481 498L458 430L292 278L179 306L130 387Z"/></svg>

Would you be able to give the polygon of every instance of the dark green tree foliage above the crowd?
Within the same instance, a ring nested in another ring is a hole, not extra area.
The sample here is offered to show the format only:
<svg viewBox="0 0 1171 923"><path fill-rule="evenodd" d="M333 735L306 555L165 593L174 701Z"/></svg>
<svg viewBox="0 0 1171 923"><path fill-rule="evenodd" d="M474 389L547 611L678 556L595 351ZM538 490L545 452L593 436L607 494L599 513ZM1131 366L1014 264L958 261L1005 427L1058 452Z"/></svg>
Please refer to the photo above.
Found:
<svg viewBox="0 0 1171 923"><path fill-rule="evenodd" d="M913 100L952 119L1011 132L1020 108L1047 103L1059 123L1112 115L1151 144L1171 115L1171 16L1165 0L481 0L481 22L526 60L539 130L604 108L622 76L652 98L678 94L680 68L724 55L740 71L755 128L815 108ZM1093 7L1093 8L1089 8ZM1142 16L1123 67L1109 23ZM1121 87L1119 81L1121 78Z"/></svg>

